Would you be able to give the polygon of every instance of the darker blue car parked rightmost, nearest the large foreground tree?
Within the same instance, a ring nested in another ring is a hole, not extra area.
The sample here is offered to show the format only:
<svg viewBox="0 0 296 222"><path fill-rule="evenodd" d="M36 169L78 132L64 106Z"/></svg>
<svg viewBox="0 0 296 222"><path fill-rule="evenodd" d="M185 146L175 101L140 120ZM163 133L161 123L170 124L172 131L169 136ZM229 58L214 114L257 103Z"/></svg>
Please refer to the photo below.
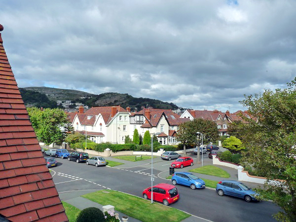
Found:
<svg viewBox="0 0 296 222"><path fill-rule="evenodd" d="M247 185L238 181L223 180L216 186L219 196L229 195L245 199L247 202L257 201L258 194Z"/></svg>

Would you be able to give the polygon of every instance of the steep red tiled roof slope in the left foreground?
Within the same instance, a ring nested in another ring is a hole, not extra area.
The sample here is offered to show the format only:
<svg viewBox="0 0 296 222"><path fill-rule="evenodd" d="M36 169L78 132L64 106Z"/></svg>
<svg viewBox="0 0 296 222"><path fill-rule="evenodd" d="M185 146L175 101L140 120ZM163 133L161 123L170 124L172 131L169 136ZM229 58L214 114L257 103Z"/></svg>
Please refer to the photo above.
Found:
<svg viewBox="0 0 296 222"><path fill-rule="evenodd" d="M0 34L0 214L11 221L68 221L2 42Z"/></svg>

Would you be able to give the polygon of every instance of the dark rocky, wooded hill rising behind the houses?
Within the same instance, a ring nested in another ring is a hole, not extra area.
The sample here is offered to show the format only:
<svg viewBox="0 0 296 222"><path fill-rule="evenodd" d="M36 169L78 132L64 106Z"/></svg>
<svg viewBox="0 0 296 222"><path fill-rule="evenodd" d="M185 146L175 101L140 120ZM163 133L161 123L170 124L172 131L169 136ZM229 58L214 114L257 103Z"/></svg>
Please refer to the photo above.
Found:
<svg viewBox="0 0 296 222"><path fill-rule="evenodd" d="M35 104L34 98L36 100L43 94L48 97L49 101L56 102L57 100L71 100L72 103L82 103L89 107L104 107L104 106L121 106L122 108L130 107L132 111L140 111L142 107L152 107L154 109L171 109L177 110L179 107L173 103L162 102L160 100L149 99L149 98L135 98L128 94L121 93L102 93L100 95L95 95L91 93L86 93L78 90L71 89L58 89L50 87L25 87L20 88L22 91L26 91L26 98L30 98L30 101L24 99L24 94L22 93L25 104L28 103ZM30 92L32 96L30 96ZM37 95L35 95L39 93ZM42 96L43 98L43 96ZM42 101L45 101L44 99ZM47 101L47 100L46 100ZM40 102L40 101L36 101ZM46 107L46 106L43 106ZM48 106L47 106L48 107Z"/></svg>

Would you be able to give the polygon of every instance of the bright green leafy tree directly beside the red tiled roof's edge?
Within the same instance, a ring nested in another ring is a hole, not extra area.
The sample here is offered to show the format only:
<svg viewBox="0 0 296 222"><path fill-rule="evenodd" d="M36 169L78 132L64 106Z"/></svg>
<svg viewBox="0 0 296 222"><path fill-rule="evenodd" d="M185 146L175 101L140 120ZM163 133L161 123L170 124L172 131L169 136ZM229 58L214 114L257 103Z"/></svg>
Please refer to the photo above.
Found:
<svg viewBox="0 0 296 222"><path fill-rule="evenodd" d="M68 122L63 110L47 108L38 111L36 108L28 108L27 111L38 139L46 146L63 136L61 128Z"/></svg>

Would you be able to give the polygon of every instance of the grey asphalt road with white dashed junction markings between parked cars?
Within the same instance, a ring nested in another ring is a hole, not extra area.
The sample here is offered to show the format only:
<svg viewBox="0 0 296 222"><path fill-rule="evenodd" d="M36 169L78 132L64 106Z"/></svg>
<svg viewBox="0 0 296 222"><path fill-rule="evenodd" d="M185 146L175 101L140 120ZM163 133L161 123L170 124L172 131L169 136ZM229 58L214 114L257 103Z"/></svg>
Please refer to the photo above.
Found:
<svg viewBox="0 0 296 222"><path fill-rule="evenodd" d="M61 158L57 160L58 166L51 168L54 171L53 181L59 193L72 191L69 198L81 195L75 190L93 192L99 189L118 190L142 197L142 191L151 185L151 165L147 163L139 166L142 161L137 162L139 165L136 167L126 168L125 165L120 165L111 168L95 167ZM171 181L158 177L168 170L172 161L155 159L154 185L172 184ZM279 211L278 206L268 201L247 203L239 198L218 196L216 191L210 188L192 190L182 185L177 185L177 188L180 200L170 205L171 207L213 222L271 222L275 221L271 215Z"/></svg>

